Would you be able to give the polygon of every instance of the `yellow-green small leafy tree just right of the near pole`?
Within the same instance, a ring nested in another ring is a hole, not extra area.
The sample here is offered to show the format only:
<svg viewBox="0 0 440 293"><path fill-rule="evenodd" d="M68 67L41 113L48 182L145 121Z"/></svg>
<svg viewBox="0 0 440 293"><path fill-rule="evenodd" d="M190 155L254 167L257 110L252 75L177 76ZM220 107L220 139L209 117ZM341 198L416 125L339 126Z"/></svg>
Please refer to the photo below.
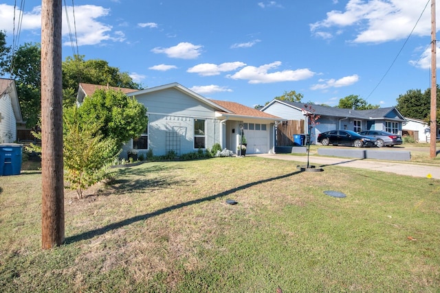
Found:
<svg viewBox="0 0 440 293"><path fill-rule="evenodd" d="M100 124L80 121L75 105L65 109L63 120L65 179L80 199L84 189L105 178L119 148L114 139L98 134Z"/></svg>

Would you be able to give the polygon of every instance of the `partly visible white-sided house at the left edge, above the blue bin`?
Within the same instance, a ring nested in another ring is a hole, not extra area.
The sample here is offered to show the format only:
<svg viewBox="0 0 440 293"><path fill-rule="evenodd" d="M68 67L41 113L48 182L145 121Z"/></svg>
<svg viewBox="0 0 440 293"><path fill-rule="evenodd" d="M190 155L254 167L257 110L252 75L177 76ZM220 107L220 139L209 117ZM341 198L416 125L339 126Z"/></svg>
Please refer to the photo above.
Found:
<svg viewBox="0 0 440 293"><path fill-rule="evenodd" d="M17 141L17 124L23 123L14 80L0 78L0 143Z"/></svg>

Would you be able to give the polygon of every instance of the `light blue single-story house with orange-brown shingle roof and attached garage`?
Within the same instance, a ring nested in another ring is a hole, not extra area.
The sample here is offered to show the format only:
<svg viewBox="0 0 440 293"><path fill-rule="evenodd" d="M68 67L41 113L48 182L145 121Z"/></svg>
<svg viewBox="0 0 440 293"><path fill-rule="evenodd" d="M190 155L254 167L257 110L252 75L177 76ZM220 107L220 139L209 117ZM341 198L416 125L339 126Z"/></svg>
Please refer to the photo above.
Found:
<svg viewBox="0 0 440 293"><path fill-rule="evenodd" d="M102 88L107 87L80 84L78 102ZM214 143L235 152L240 144L241 126L248 142L247 154L269 153L274 149L275 125L282 119L269 113L234 102L207 99L178 83L141 91L120 90L144 104L148 115L146 130L124 146L123 156L130 148L143 154L153 150L154 155L170 151L179 155L212 148Z"/></svg>

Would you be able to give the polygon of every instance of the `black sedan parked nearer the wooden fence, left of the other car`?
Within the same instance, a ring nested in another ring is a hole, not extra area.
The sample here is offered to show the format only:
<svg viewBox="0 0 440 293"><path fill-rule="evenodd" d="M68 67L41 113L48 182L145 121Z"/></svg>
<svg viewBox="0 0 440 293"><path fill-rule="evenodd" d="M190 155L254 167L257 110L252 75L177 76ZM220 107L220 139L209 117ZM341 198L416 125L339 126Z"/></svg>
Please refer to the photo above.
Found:
<svg viewBox="0 0 440 293"><path fill-rule="evenodd" d="M373 137L367 137L351 130L331 130L318 135L318 143L322 143L322 145L348 145L360 148L374 146L375 142Z"/></svg>

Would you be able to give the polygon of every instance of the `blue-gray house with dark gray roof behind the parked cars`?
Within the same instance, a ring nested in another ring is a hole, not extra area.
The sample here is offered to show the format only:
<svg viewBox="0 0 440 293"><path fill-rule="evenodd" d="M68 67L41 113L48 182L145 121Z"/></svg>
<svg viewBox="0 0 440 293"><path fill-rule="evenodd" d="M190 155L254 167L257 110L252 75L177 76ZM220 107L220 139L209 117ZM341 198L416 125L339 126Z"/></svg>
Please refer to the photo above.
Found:
<svg viewBox="0 0 440 293"><path fill-rule="evenodd" d="M287 121L299 121L301 131L294 134L307 134L307 121L303 110L305 103L286 102L278 99L272 100L261 108L261 111L282 117ZM329 130L346 129L360 132L362 130L385 130L395 134L401 134L402 124L406 121L395 107L377 108L371 110L352 110L308 104L314 109L316 115L320 115L319 124L311 131L311 143L316 143L318 134ZM281 127L283 124L281 124ZM286 137L286 132L277 130L277 137ZM290 142L293 144L292 133L289 133ZM280 139L277 139L279 142Z"/></svg>

